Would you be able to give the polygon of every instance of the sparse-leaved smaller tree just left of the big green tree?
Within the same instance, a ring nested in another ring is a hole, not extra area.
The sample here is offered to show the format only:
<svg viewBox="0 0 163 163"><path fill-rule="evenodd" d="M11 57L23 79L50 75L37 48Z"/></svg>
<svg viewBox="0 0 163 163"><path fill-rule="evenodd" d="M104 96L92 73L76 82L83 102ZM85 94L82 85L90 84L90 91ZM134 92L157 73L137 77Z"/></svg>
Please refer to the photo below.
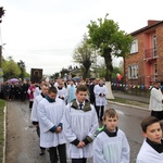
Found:
<svg viewBox="0 0 163 163"><path fill-rule="evenodd" d="M89 77L89 70L92 63L95 63L95 50L87 42L87 35L84 35L82 42L75 48L73 53L74 62L79 63L83 70L83 78Z"/></svg>

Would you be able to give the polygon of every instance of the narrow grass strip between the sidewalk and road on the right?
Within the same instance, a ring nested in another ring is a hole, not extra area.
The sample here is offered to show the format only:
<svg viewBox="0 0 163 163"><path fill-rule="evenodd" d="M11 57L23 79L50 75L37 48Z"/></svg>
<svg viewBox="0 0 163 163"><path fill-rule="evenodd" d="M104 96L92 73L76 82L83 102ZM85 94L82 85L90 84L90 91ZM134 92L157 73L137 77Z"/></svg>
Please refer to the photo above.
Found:
<svg viewBox="0 0 163 163"><path fill-rule="evenodd" d="M124 104L131 104L131 105L137 105L137 106L142 106L142 108L148 108L148 105L149 105L147 102L127 100L127 99L123 99L123 98L110 99L109 101L114 101L114 102L124 103Z"/></svg>

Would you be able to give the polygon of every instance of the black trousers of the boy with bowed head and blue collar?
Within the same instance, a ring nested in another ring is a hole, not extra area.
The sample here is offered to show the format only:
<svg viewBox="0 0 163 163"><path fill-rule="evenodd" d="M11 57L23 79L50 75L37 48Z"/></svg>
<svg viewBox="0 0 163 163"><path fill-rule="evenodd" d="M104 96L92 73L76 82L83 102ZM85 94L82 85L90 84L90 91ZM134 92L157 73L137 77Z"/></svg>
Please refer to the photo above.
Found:
<svg viewBox="0 0 163 163"><path fill-rule="evenodd" d="M58 163L57 149L59 151L60 163L66 163L65 143L49 148L50 163Z"/></svg>

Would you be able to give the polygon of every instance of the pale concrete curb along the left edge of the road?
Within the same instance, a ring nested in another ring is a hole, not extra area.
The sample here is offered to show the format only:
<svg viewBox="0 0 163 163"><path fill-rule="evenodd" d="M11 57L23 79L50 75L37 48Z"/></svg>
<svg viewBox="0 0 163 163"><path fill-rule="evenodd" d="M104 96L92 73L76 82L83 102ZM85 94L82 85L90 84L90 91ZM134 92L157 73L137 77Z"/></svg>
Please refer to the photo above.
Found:
<svg viewBox="0 0 163 163"><path fill-rule="evenodd" d="M5 106L3 110L4 113L4 120L3 120L3 138L4 138L4 142L3 142L3 159L2 159L2 163L5 163L5 143L7 143L7 102L5 102Z"/></svg>

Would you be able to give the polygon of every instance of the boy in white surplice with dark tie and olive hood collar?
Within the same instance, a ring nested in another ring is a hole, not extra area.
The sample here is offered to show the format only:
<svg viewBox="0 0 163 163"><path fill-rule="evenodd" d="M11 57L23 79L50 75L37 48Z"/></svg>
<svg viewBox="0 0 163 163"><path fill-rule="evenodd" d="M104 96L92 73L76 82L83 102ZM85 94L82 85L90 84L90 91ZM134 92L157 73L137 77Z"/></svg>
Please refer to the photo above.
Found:
<svg viewBox="0 0 163 163"><path fill-rule="evenodd" d="M79 85L75 96L65 109L63 134L67 140L67 158L72 163L86 163L92 156L93 134L99 124L93 105L86 100L87 86Z"/></svg>

